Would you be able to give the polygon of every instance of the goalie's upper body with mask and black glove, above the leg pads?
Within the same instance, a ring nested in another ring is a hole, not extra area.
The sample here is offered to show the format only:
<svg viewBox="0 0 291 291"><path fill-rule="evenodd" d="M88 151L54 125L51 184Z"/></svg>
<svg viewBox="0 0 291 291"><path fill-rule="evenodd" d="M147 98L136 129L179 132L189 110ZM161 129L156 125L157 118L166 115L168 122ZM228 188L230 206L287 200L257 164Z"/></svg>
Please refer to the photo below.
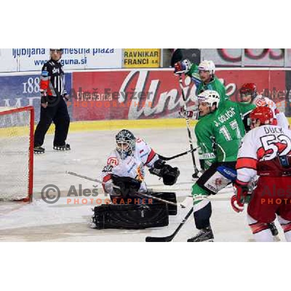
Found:
<svg viewBox="0 0 291 291"><path fill-rule="evenodd" d="M151 174L162 178L165 185L176 183L180 174L178 168L162 161L142 138L135 138L132 132L123 129L115 139L116 148L108 156L102 171L103 182L107 183L103 186L104 191L110 194L112 201L118 203L120 199L147 192L145 166ZM113 188L111 184L121 189Z"/></svg>

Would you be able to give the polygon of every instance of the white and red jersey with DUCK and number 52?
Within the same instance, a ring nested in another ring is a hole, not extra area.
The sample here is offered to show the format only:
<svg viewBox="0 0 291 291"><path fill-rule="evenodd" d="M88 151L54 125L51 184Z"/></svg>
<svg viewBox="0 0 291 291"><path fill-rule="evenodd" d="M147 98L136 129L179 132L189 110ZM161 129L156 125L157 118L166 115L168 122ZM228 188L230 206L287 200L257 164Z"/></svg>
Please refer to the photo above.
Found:
<svg viewBox="0 0 291 291"><path fill-rule="evenodd" d="M249 131L242 140L236 164L237 179L242 184L258 175L267 176L264 167L277 173L283 171L277 161L279 156L289 156L291 161L291 130L275 125L263 125Z"/></svg>

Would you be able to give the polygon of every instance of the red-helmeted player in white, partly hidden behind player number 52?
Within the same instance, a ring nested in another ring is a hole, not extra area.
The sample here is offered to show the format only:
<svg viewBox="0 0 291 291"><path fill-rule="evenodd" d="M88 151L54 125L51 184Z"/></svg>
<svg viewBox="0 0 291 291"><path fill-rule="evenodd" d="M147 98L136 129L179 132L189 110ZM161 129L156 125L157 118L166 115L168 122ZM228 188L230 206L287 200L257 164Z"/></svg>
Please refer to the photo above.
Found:
<svg viewBox="0 0 291 291"><path fill-rule="evenodd" d="M268 97L257 95L257 86L255 83L244 83L240 88L240 97L242 102L253 103L257 107L269 107L274 114L273 124L279 125L284 129L289 128L288 119L283 112L280 112L275 102ZM246 120L247 118L245 119L245 122ZM249 126L245 124L245 128L247 130L249 129Z"/></svg>

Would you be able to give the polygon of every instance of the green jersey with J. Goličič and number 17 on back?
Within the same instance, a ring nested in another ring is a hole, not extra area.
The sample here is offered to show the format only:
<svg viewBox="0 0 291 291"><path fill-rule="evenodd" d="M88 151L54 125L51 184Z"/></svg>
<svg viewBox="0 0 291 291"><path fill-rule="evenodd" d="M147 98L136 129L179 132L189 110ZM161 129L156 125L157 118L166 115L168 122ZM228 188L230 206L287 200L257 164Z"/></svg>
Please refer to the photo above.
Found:
<svg viewBox="0 0 291 291"><path fill-rule="evenodd" d="M225 101L217 110L201 118L195 126L199 159L204 169L213 162L237 160L242 137L245 135L243 117L255 105Z"/></svg>

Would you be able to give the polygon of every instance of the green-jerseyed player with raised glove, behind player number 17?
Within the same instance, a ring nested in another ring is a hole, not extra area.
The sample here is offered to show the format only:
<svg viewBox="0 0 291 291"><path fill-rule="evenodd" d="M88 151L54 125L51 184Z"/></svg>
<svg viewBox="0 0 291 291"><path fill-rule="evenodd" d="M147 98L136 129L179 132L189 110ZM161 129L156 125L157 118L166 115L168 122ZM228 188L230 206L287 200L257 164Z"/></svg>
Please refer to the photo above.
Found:
<svg viewBox="0 0 291 291"><path fill-rule="evenodd" d="M212 61L202 61L199 65L192 64L188 59L175 64L175 74L191 77L196 85L196 95L206 90L216 91L220 96L220 102L228 100L226 89L221 81L214 75L215 65Z"/></svg>

